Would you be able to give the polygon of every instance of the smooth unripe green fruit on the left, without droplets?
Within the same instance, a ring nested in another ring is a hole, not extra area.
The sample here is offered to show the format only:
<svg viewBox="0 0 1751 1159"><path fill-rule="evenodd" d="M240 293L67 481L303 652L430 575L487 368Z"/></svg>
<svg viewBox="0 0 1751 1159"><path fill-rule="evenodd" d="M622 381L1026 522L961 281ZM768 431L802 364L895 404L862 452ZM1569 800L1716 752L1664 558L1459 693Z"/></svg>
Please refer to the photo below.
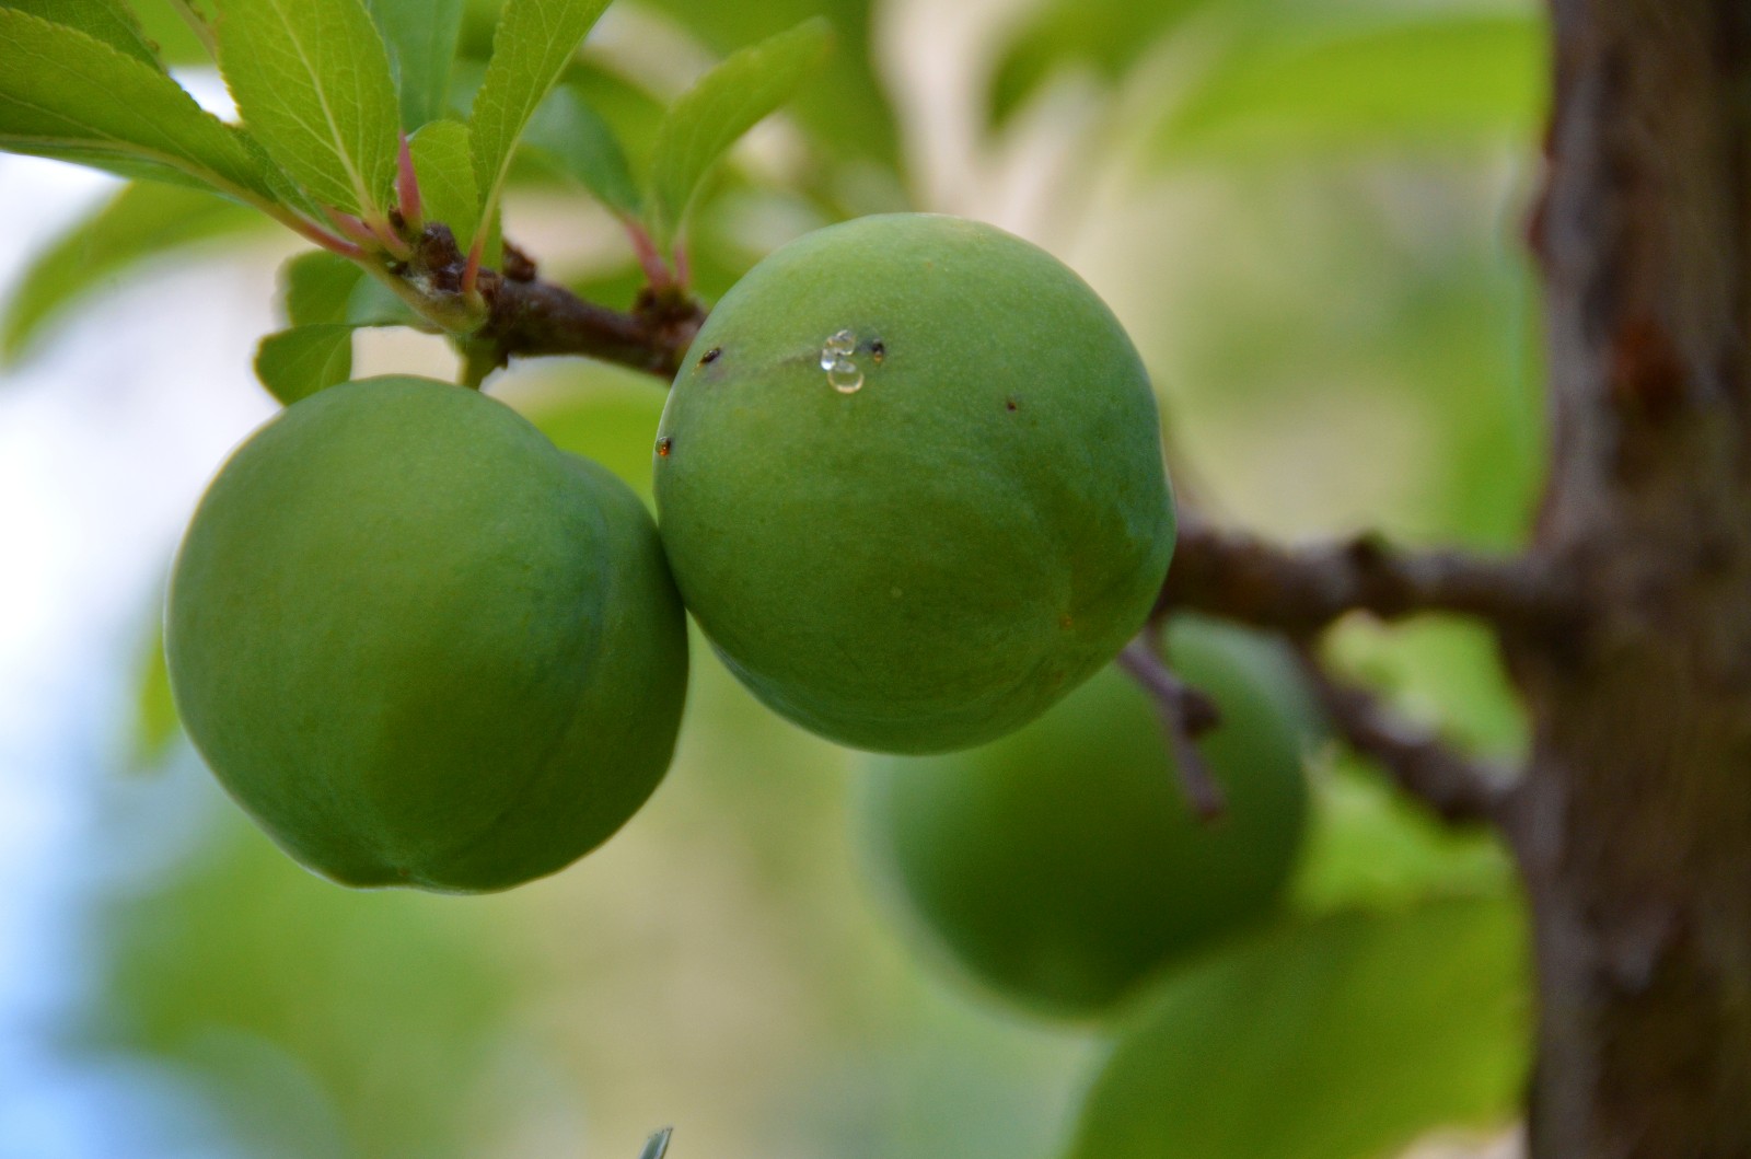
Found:
<svg viewBox="0 0 1751 1159"><path fill-rule="evenodd" d="M331 387L231 455L165 648L224 786L352 886L503 889L588 853L662 779L686 686L637 497L418 378Z"/></svg>

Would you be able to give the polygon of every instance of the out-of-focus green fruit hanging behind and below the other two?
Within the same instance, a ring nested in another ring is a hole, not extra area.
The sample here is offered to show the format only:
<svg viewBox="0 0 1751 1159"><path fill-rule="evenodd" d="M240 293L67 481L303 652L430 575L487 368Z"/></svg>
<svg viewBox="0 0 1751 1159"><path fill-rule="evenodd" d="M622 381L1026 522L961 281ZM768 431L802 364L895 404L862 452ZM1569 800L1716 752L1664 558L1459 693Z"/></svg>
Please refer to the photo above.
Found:
<svg viewBox="0 0 1751 1159"><path fill-rule="evenodd" d="M1222 709L1198 742L1226 793L1217 821L1187 809L1156 707L1117 667L995 744L870 760L877 875L930 942L1023 1005L1112 1007L1271 910L1294 867L1308 713L1292 667L1240 629L1182 620L1170 641Z"/></svg>

